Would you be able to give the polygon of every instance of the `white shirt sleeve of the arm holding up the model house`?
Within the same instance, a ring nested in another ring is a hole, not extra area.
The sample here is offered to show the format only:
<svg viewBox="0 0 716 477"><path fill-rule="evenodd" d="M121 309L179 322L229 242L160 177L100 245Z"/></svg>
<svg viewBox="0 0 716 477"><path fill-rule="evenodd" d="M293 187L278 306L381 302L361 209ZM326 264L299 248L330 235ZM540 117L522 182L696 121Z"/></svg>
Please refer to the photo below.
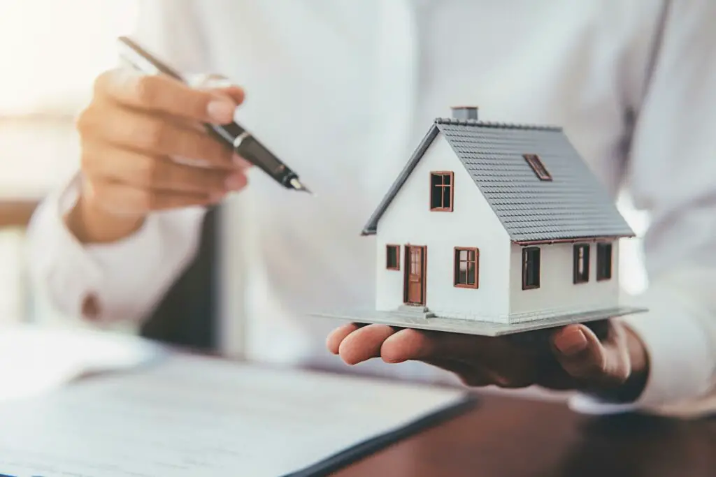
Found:
<svg viewBox="0 0 716 477"><path fill-rule="evenodd" d="M649 212L649 287L632 297L649 312L624 323L646 345L649 380L632 405L579 395L579 410L716 411L716 2L666 5L627 174L634 204Z"/></svg>

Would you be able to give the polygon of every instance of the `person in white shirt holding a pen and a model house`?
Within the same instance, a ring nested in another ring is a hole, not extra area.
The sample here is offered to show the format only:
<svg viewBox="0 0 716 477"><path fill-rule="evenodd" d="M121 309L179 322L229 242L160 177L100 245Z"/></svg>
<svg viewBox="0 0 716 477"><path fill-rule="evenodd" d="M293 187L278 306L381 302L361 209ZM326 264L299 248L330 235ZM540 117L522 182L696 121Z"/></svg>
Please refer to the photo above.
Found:
<svg viewBox="0 0 716 477"><path fill-rule="evenodd" d="M432 119L479 104L484 119L563 125L609 192L626 185L651 213L650 285L636 297L649 313L614 320L604 343L581 325L556 330L548 350L379 325L343 325L329 350L386 372L370 358L402 363L403 375L447 370L468 385L576 389L591 403L714 406L715 4L140 6L138 41L183 72L220 72L241 87L192 90L120 71L97 80L78 122L82 173L49 197L30 231L34 279L61 310L134 320L177 343L204 336L200 344L228 355L242 344L250 358L326 362L322 342L336 323L306 313L373 303L373 244L359 230ZM197 126L234 114L317 197L281 190ZM205 215L217 202L221 212ZM221 305L221 321L206 334L206 315L182 317L199 295L192 286L208 280L187 277L206 272L197 250L217 216L221 295L203 296ZM545 351L551 360L534 365Z"/></svg>

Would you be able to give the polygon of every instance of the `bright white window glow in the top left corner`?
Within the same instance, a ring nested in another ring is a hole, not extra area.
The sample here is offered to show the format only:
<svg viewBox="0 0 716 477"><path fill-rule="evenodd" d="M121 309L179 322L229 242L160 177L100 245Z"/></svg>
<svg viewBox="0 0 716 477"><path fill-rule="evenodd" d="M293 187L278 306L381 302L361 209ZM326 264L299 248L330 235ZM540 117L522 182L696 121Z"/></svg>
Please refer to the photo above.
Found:
<svg viewBox="0 0 716 477"><path fill-rule="evenodd" d="M150 0L151 1L151 0ZM75 114L92 79L117 64L136 0L2 0L0 116Z"/></svg>

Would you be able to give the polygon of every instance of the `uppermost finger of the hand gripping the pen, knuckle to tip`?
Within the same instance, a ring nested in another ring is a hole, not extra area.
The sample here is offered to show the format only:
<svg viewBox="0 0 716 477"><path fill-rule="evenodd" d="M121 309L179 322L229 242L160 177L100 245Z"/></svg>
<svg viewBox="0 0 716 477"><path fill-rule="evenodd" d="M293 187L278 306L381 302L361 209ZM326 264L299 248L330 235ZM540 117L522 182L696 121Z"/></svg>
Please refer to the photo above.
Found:
<svg viewBox="0 0 716 477"><path fill-rule="evenodd" d="M100 99L216 124L231 122L236 107L243 101L238 87L225 90L218 93L193 89L165 75L147 76L127 69L105 72L95 82L95 97Z"/></svg>

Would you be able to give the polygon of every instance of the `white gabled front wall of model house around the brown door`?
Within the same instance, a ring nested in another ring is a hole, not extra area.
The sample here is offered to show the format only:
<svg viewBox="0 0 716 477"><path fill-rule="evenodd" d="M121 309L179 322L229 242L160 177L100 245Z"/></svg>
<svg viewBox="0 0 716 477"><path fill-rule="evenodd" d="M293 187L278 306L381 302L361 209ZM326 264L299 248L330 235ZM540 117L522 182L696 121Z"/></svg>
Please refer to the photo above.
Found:
<svg viewBox="0 0 716 477"><path fill-rule="evenodd" d="M453 171L453 212L430 211L430 172ZM400 271L386 245L400 245ZM377 309L403 304L405 245L427 246L425 305L438 315L507 322L510 242L490 205L439 134L377 226ZM453 285L454 247L478 247L479 288Z"/></svg>

